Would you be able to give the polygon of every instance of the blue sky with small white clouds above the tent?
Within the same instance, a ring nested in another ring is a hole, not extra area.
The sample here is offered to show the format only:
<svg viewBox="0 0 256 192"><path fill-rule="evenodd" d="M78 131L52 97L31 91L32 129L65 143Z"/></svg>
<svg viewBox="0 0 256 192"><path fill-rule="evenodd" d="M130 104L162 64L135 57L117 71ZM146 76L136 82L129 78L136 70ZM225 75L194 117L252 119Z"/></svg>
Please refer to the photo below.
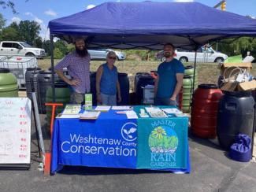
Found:
<svg viewBox="0 0 256 192"><path fill-rule="evenodd" d="M92 6L98 6L103 2L143 2L144 0L13 0L18 14L12 13L11 9L2 9L0 13L6 19L8 26L12 21L35 20L41 25L40 36L49 38L47 25L49 20L69 16L81 12ZM193 0L175 0L176 2L193 2ZM194 0L206 6L215 6L221 0ZM173 0L154 0L154 2L174 2ZM256 0L227 0L226 11L239 15L256 17Z"/></svg>

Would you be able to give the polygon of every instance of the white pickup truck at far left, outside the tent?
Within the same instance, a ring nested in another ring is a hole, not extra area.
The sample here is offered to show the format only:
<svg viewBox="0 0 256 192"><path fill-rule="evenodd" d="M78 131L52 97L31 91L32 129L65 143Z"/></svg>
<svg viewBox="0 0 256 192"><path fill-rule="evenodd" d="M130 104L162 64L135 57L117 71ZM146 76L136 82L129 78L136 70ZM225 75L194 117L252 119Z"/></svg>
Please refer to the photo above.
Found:
<svg viewBox="0 0 256 192"><path fill-rule="evenodd" d="M0 55L43 58L46 57L46 52L41 48L28 45L26 42L2 41L0 42Z"/></svg>

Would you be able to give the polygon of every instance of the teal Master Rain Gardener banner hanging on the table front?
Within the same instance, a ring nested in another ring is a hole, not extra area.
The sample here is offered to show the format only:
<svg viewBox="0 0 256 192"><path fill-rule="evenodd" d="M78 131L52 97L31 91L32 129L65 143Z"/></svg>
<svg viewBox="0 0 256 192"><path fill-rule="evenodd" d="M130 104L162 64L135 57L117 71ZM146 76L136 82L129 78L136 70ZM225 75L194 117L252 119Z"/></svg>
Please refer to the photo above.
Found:
<svg viewBox="0 0 256 192"><path fill-rule="evenodd" d="M137 168L187 168L187 117L138 119Z"/></svg>

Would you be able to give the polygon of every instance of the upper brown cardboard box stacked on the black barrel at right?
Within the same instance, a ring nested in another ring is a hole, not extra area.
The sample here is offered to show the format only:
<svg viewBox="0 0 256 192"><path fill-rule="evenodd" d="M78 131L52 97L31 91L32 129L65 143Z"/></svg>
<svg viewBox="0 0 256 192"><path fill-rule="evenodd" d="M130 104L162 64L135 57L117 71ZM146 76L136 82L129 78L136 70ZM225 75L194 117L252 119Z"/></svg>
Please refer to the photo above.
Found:
<svg viewBox="0 0 256 192"><path fill-rule="evenodd" d="M237 67L246 69L247 72L250 72L252 65L251 63L224 63L218 65L218 68L221 69L221 76L225 76L225 78L228 78L231 72L235 72L234 69Z"/></svg>

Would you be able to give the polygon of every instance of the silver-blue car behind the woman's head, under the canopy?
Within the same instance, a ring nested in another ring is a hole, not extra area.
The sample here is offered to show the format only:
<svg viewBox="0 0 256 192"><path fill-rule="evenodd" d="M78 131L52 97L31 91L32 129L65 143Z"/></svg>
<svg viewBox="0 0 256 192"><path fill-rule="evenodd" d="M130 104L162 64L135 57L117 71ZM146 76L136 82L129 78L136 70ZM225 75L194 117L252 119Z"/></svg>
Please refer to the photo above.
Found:
<svg viewBox="0 0 256 192"><path fill-rule="evenodd" d="M92 60L106 60L106 54L111 51L110 49L97 49L97 50L88 50L91 55ZM117 54L117 60L121 61L126 58L125 54L121 51L113 50Z"/></svg>

